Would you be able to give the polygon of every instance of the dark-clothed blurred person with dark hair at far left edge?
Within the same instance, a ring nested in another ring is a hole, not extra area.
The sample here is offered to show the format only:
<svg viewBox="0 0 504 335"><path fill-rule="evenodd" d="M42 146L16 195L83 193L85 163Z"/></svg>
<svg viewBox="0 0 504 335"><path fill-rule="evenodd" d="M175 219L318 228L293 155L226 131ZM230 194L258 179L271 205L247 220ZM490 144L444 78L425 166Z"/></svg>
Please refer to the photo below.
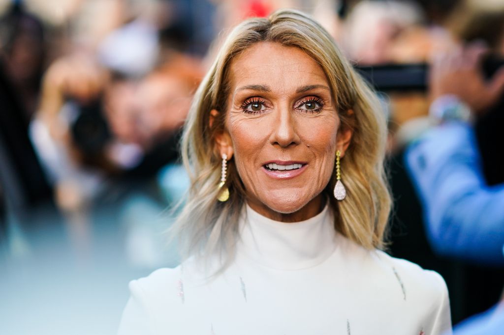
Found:
<svg viewBox="0 0 504 335"><path fill-rule="evenodd" d="M44 28L14 2L0 19L0 184L17 211L50 202L50 188L28 137L44 64ZM22 212L22 211L21 211Z"/></svg>

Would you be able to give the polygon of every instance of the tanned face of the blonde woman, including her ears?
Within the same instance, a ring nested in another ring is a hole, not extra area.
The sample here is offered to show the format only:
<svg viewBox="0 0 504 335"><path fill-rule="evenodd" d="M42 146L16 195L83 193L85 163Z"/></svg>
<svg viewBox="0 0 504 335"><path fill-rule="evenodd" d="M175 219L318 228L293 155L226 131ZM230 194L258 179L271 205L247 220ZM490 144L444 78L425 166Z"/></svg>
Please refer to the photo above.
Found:
<svg viewBox="0 0 504 335"><path fill-rule="evenodd" d="M301 49L257 43L230 67L222 153L234 155L248 204L280 221L312 217L349 131L340 119L322 67Z"/></svg>

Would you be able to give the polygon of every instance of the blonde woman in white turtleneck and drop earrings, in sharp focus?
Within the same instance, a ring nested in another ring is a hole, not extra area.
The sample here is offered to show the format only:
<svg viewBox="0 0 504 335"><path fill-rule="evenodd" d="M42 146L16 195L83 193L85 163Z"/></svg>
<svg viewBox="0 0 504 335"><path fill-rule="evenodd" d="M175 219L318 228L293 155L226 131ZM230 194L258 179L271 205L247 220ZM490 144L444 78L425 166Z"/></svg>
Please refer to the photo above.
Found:
<svg viewBox="0 0 504 335"><path fill-rule="evenodd" d="M318 23L283 10L236 27L185 124L186 258L130 284L119 333L450 329L443 279L379 250L385 136L379 103Z"/></svg>

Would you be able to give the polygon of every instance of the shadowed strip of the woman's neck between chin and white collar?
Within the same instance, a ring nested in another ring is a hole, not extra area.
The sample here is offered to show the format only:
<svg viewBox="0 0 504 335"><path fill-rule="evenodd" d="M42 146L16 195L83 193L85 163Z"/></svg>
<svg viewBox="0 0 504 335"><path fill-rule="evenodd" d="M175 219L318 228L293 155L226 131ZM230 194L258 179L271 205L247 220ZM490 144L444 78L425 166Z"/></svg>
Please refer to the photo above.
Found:
<svg viewBox="0 0 504 335"><path fill-rule="evenodd" d="M317 197L313 198L302 208L292 213L277 212L257 200L256 201L248 200L247 203L251 209L269 219L280 222L300 222L310 219L319 214L320 212L322 212L326 202L324 201L323 195L319 194Z"/></svg>

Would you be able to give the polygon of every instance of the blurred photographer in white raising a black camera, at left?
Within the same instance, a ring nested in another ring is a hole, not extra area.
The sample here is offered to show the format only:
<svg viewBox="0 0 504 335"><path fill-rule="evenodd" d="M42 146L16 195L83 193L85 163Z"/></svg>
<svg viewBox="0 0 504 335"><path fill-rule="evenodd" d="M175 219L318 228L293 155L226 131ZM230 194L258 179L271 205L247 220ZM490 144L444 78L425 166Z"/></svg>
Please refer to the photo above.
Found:
<svg viewBox="0 0 504 335"><path fill-rule="evenodd" d="M93 113L99 108L97 99L106 76L106 71L92 57L82 54L56 60L44 76L31 136L56 187L57 202L68 210L87 202L102 181L97 170L81 169L86 157L76 145L72 125L84 106L89 106ZM90 128L92 132L95 130Z"/></svg>

